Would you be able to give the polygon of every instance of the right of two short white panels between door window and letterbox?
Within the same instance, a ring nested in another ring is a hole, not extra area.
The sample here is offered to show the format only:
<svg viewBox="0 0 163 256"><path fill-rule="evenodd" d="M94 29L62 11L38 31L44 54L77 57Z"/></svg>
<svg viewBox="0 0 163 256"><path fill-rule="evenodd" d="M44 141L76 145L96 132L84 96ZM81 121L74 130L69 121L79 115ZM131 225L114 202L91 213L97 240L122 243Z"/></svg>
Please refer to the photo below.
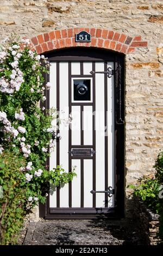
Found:
<svg viewBox="0 0 163 256"><path fill-rule="evenodd" d="M93 124L92 124L92 106L84 106L83 108L83 130L84 145L92 145Z"/></svg>

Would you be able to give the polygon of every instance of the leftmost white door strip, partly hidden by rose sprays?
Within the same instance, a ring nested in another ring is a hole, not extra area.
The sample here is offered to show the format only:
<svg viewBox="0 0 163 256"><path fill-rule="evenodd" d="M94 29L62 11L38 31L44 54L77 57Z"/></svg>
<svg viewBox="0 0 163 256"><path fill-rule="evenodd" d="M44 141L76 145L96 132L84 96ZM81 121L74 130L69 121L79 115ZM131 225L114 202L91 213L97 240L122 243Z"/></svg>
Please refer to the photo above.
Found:
<svg viewBox="0 0 163 256"><path fill-rule="evenodd" d="M57 106L57 80L56 80L56 63L51 63L50 65L50 74L49 74L49 81L52 84L50 92L49 92L49 106L56 108ZM56 122L54 123L56 125ZM49 159L49 169L52 170L57 166L56 161L56 147L51 153L51 157ZM49 206L50 207L57 207L57 192L56 187L54 185L51 185L50 187L50 196L49 196Z"/></svg>

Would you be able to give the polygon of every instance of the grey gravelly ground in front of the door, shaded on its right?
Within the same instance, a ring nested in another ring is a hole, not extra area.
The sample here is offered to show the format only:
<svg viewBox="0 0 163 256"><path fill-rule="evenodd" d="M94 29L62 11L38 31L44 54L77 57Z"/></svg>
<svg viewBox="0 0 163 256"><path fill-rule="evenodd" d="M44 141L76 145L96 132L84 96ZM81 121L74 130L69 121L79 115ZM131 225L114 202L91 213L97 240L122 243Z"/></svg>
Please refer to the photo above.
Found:
<svg viewBox="0 0 163 256"><path fill-rule="evenodd" d="M56 220L29 223L24 245L144 245L133 220Z"/></svg>

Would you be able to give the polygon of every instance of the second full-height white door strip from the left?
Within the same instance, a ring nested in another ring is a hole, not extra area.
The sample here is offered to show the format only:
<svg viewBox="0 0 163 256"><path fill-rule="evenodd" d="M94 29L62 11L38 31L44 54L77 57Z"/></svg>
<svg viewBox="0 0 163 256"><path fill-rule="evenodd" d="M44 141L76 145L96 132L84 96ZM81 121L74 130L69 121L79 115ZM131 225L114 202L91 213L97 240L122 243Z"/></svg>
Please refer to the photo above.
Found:
<svg viewBox="0 0 163 256"><path fill-rule="evenodd" d="M60 118L68 118L68 63L59 63ZM60 125L60 164L68 172L68 126ZM68 207L68 184L60 186L60 207Z"/></svg>

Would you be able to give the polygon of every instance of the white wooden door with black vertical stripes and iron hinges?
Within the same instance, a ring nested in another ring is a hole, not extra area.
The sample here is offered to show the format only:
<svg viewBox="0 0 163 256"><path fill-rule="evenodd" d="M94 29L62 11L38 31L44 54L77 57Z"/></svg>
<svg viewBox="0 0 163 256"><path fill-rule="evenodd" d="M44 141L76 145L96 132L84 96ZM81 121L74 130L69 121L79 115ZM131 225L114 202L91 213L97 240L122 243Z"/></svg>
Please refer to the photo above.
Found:
<svg viewBox="0 0 163 256"><path fill-rule="evenodd" d="M90 74L114 69L113 62L51 62L49 106L72 123L59 127L61 136L50 157L49 169L61 164L66 172L76 166L70 184L51 186L51 214L97 214L114 207L114 76ZM94 190L96 193L92 194Z"/></svg>

